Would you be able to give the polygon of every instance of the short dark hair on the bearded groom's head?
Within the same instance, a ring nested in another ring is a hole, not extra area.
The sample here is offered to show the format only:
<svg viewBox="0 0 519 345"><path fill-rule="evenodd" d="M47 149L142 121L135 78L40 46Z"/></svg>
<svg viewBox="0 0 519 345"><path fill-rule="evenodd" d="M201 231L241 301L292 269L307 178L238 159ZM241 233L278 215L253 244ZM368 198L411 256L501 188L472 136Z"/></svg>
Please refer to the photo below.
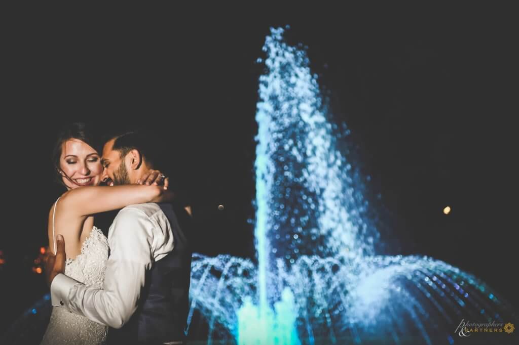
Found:
<svg viewBox="0 0 519 345"><path fill-rule="evenodd" d="M121 158L125 157L131 150L137 150L143 156L149 168L156 169L159 164L160 147L156 145L156 139L148 133L129 131L123 134L112 136L114 140L113 150L120 153Z"/></svg>

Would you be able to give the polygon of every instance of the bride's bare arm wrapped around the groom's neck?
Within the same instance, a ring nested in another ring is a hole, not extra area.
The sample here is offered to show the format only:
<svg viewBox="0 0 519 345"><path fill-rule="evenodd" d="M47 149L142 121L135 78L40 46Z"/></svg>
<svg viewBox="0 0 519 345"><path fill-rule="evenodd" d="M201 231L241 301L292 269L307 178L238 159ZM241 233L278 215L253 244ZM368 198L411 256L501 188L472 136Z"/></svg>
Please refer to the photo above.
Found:
<svg viewBox="0 0 519 345"><path fill-rule="evenodd" d="M86 216L117 210L133 204L171 201L173 196L173 192L166 191L163 186L157 185L86 186L63 194L60 204L63 212Z"/></svg>

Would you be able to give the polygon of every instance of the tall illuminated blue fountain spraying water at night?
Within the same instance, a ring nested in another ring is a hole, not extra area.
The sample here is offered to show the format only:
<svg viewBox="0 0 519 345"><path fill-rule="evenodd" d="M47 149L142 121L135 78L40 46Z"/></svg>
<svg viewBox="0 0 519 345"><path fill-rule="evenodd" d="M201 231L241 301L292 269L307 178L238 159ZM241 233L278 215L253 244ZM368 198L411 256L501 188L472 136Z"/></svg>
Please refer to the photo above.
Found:
<svg viewBox="0 0 519 345"><path fill-rule="evenodd" d="M515 320L456 267L377 253L379 234L342 144L348 131L332 124L306 52L283 33L271 29L263 47L257 265L228 255L197 255L193 264L190 315L207 318L209 343L454 343L463 318Z"/></svg>

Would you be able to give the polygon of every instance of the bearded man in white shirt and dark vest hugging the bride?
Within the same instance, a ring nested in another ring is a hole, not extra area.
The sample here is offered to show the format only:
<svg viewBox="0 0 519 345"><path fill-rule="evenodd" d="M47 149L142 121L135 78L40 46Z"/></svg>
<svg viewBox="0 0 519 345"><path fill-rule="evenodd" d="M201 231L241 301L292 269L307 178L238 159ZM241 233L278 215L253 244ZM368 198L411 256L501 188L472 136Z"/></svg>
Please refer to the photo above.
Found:
<svg viewBox="0 0 519 345"><path fill-rule="evenodd" d="M136 183L156 166L155 147L140 134L112 138L103 148L103 180ZM108 343L182 344L189 303L192 252L189 216L171 204L119 211L108 231L104 290L65 276L62 238L47 263L52 305L112 327ZM182 226L180 225L182 224Z"/></svg>

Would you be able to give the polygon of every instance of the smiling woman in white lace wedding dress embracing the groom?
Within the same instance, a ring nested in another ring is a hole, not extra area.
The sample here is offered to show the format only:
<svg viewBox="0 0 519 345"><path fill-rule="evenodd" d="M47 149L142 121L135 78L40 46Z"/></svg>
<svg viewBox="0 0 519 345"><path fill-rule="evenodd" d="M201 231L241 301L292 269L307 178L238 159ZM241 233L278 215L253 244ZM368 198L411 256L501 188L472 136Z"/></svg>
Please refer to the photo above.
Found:
<svg viewBox="0 0 519 345"><path fill-rule="evenodd" d="M157 170L152 170L139 184L99 186L103 167L96 144L83 123L74 123L60 133L53 163L59 182L67 191L50 209L48 237L53 253L56 235L65 238L65 275L102 289L108 241L95 227L94 214L132 204L163 202L170 200L172 193L165 192L168 180L163 180L165 176ZM161 183L164 185L158 185ZM106 335L107 326L65 308L52 308L42 344L102 344Z"/></svg>

